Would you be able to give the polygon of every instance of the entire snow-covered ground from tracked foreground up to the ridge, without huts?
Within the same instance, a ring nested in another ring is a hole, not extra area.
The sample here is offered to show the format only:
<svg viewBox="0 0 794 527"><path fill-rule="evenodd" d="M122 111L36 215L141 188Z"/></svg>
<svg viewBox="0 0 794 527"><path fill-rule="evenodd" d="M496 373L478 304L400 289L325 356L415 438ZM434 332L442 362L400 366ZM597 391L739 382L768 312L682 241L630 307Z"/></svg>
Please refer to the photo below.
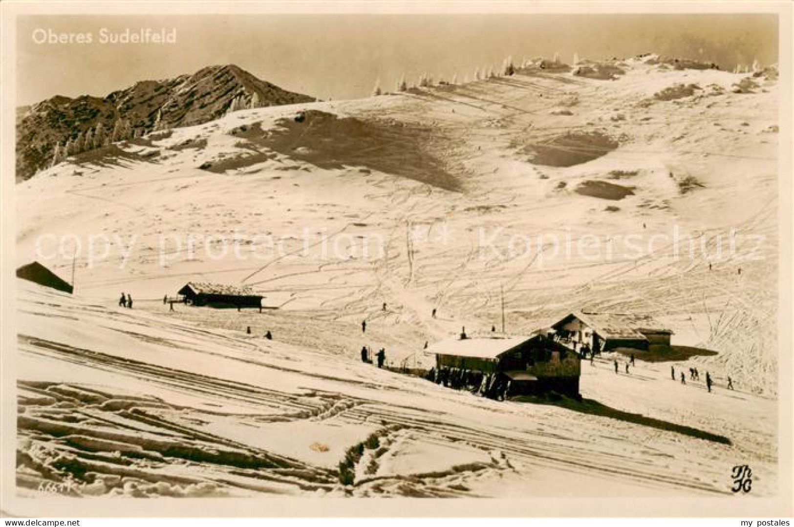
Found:
<svg viewBox="0 0 794 527"><path fill-rule="evenodd" d="M17 184L18 264L68 280L71 249L37 243L83 242L73 297L18 283L19 492L689 496L731 494L750 464L754 495L774 494L777 81L615 67L241 110ZM709 255L682 254L673 229ZM629 234L653 251L623 255ZM91 236L113 243L90 255ZM169 311L191 280L277 309ZM623 356L583 362L578 404L495 402L358 358L428 366L426 341L500 328L502 301L507 333L637 312L704 351L638 355L630 375ZM671 366L711 372L714 393Z"/></svg>

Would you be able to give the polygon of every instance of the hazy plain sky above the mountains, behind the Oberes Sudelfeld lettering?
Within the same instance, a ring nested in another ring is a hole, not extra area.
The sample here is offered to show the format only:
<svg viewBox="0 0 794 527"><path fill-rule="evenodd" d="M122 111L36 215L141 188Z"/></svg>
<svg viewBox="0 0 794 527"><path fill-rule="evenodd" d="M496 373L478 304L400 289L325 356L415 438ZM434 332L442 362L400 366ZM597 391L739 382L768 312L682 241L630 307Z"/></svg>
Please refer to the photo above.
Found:
<svg viewBox="0 0 794 527"><path fill-rule="evenodd" d="M100 29L176 28L176 44L100 44ZM36 44L36 29L92 33L92 44ZM505 56L583 58L658 52L736 63L777 62L772 14L356 14L20 17L17 105L53 95L104 96L145 79L235 63L288 90L327 99L385 90L403 74L435 79L497 67Z"/></svg>

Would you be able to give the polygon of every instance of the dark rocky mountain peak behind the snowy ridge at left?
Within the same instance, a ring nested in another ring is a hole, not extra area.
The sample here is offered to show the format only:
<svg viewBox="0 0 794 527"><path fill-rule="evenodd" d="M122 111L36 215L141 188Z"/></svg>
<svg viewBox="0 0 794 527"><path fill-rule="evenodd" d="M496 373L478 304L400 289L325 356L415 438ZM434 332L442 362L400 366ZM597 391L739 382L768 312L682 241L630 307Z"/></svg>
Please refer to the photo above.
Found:
<svg viewBox="0 0 794 527"><path fill-rule="evenodd" d="M169 126L212 121L229 110L312 101L225 64L174 79L145 80L106 97L61 95L17 110L17 181L57 156L102 148ZM68 146L67 146L68 145ZM95 152L94 152L95 153Z"/></svg>

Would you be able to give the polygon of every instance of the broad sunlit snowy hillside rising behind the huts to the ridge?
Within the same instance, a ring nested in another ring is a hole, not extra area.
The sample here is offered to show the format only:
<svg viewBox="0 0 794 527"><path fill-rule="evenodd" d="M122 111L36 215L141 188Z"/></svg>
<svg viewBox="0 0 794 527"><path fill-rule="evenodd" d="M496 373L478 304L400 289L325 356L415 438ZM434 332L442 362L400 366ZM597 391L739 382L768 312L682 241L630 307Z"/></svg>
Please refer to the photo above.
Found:
<svg viewBox="0 0 794 527"><path fill-rule="evenodd" d="M529 72L244 110L120 144L17 185L18 260L43 240L68 275L69 240L54 242L75 234L79 294L245 282L398 340L420 328L400 353L499 325L501 286L512 333L571 309L642 311L774 393L777 86L737 94L752 75L629 65L613 81ZM654 97L678 85L700 89Z"/></svg>

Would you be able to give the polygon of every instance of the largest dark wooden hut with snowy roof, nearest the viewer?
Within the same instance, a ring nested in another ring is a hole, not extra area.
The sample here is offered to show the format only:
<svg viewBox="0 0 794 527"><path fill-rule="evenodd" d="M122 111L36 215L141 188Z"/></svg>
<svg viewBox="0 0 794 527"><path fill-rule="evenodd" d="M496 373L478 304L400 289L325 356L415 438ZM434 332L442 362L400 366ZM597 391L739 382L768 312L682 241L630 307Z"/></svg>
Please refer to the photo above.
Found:
<svg viewBox="0 0 794 527"><path fill-rule="evenodd" d="M427 352L435 354L437 371L457 368L509 380L507 396L552 391L579 395L579 355L544 334L456 338L434 344Z"/></svg>

